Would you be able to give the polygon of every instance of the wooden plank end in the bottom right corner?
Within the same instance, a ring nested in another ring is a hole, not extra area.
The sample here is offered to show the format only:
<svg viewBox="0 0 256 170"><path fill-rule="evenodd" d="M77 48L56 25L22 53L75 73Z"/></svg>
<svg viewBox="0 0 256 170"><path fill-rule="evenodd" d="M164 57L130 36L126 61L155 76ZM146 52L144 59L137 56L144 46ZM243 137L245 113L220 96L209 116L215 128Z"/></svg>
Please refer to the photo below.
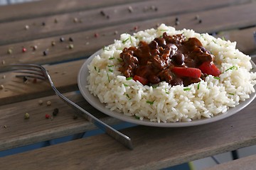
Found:
<svg viewBox="0 0 256 170"><path fill-rule="evenodd" d="M218 164L216 166L206 168L205 170L233 170L233 169L243 169L243 170L254 170L256 167L256 155L251 155L247 157L242 157L234 161L225 162L223 164Z"/></svg>

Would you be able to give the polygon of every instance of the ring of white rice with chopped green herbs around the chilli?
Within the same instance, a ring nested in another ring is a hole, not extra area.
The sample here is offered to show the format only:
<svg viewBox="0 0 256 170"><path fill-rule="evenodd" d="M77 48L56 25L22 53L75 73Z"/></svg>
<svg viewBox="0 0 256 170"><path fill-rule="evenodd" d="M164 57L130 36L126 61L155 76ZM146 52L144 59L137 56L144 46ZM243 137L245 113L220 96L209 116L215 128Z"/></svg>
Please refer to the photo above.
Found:
<svg viewBox="0 0 256 170"><path fill-rule="evenodd" d="M119 54L124 47L137 46L141 40L149 43L164 32L198 38L215 55L215 64L222 72L220 79L209 75L205 81L187 87L171 86L166 82L153 87L122 76ZM120 40L114 40L114 44L105 47L102 54L88 65L87 88L111 111L135 115L140 120L169 123L212 118L238 106L240 101L245 101L255 92L256 74L250 72L250 57L235 49L235 45L235 42L214 38L207 33L175 30L164 24L134 35L124 33ZM184 91L185 88L190 90Z"/></svg>

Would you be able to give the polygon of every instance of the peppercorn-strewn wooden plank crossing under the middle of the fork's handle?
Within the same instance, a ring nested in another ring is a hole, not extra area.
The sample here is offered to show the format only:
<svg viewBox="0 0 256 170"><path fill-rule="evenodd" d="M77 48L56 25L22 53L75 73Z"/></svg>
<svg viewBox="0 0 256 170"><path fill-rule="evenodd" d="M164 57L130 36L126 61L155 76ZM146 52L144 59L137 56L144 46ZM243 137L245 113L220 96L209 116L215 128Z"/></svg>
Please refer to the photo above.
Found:
<svg viewBox="0 0 256 170"><path fill-rule="evenodd" d="M92 108L80 94L64 95L107 124L120 123L119 120L107 117ZM39 104L39 100L43 101L43 104ZM50 106L47 105L48 101L51 103ZM55 108L58 108L59 113L53 116ZM29 114L29 119L24 119L26 113ZM50 115L49 119L46 119L46 114ZM77 119L74 119L75 114L73 108L70 108L58 96L0 106L0 151L95 129L95 125L79 115ZM51 119L52 116L53 119Z"/></svg>

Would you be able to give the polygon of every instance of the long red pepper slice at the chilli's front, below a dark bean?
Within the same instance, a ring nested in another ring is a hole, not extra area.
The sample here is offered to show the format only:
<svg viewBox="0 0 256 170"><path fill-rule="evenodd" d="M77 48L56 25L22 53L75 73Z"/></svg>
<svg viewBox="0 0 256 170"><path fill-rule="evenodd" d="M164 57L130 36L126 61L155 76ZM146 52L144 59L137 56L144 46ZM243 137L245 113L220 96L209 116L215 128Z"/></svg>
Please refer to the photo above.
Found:
<svg viewBox="0 0 256 170"><path fill-rule="evenodd" d="M200 78L201 70L192 67L174 67L171 69L171 72L180 76L180 77L191 77L191 78Z"/></svg>

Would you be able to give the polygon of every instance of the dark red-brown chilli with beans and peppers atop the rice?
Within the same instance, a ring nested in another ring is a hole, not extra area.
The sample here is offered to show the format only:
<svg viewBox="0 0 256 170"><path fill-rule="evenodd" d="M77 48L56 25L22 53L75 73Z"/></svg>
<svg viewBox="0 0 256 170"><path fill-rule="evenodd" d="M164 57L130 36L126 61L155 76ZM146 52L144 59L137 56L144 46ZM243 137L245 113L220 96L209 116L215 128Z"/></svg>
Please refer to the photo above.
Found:
<svg viewBox="0 0 256 170"><path fill-rule="evenodd" d="M149 43L140 41L138 47L125 47L120 57L120 72L144 85L166 81L172 86L188 86L205 79L206 74L220 75L213 63L214 55L200 40L186 40L183 34L163 33Z"/></svg>

